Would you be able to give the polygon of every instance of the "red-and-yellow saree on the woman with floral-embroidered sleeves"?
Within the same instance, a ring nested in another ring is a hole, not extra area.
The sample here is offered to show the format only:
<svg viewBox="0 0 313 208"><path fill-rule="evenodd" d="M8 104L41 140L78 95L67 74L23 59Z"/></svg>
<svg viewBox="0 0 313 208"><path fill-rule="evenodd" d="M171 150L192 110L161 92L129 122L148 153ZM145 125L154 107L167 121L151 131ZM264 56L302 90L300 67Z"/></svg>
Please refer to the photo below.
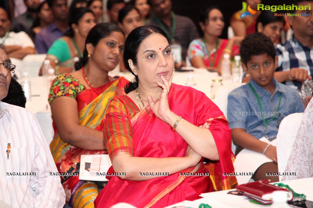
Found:
<svg viewBox="0 0 313 208"><path fill-rule="evenodd" d="M67 81L70 82L69 80ZM128 81L125 78L120 77L106 85L80 92L76 96L80 125L103 131L108 104L114 96L125 94L124 86L127 83ZM106 150L87 150L65 143L60 138L54 122L53 127L54 138L50 144L50 149L59 172L67 172L74 163L80 162L81 155L107 153ZM62 179L61 177L61 181ZM72 194L77 190L77 186L80 185L79 176L71 176L63 183L67 202L69 202Z"/></svg>

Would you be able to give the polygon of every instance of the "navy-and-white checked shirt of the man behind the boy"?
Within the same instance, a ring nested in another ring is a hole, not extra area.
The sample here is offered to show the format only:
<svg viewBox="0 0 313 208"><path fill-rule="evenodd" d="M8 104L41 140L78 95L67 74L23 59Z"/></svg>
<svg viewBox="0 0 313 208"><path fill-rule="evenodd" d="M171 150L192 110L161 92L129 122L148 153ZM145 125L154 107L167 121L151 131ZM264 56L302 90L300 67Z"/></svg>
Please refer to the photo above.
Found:
<svg viewBox="0 0 313 208"><path fill-rule="evenodd" d="M278 56L278 68L276 71L288 71L291 68L302 68L313 74L313 48L303 46L292 36L284 45L277 44L276 55ZM302 83L298 81L286 81L287 85L294 85L300 89Z"/></svg>

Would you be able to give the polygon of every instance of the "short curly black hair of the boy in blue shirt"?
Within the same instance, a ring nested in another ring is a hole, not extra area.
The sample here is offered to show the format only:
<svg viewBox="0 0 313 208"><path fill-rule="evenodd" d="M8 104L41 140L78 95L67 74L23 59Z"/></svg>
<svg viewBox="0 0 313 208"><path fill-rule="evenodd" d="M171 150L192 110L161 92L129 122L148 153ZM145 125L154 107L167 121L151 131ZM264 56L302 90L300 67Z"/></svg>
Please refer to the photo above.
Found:
<svg viewBox="0 0 313 208"><path fill-rule="evenodd" d="M240 56L244 65L251 60L251 56L262 54L271 56L275 61L276 50L271 39L260 32L245 36L240 46Z"/></svg>

